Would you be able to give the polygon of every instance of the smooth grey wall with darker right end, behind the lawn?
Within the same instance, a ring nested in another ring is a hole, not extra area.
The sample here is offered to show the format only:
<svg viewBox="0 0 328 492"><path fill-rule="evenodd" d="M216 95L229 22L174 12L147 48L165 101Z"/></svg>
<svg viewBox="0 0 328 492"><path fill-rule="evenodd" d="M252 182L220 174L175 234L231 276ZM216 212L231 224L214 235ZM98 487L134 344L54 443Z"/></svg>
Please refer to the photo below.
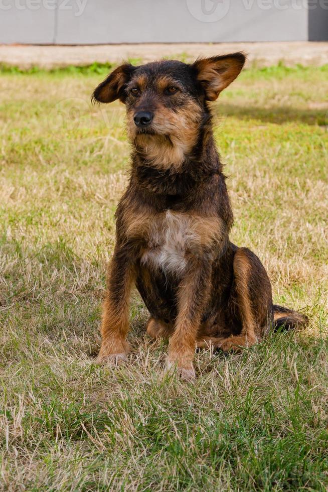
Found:
<svg viewBox="0 0 328 492"><path fill-rule="evenodd" d="M0 43L328 40L328 0L0 0Z"/></svg>

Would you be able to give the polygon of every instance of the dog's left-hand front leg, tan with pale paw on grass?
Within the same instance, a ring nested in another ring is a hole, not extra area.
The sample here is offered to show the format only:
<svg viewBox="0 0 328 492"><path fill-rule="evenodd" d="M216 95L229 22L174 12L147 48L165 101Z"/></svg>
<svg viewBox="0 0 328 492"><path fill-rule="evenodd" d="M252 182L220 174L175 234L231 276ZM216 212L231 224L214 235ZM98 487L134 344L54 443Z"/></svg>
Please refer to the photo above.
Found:
<svg viewBox="0 0 328 492"><path fill-rule="evenodd" d="M128 247L116 247L108 277L101 323L102 344L98 362L126 359L129 345L129 298L135 279L132 255Z"/></svg>

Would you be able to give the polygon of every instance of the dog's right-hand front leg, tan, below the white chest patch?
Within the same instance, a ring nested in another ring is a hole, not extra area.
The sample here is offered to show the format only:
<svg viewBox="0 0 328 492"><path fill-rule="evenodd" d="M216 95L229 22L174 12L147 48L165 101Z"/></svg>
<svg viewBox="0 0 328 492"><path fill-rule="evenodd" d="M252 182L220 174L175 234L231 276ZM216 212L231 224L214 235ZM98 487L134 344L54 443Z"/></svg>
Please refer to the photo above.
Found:
<svg viewBox="0 0 328 492"><path fill-rule="evenodd" d="M211 284L209 262L193 260L180 282L178 290L178 315L175 332L170 338L168 369L176 367L185 379L195 378L193 359L197 331Z"/></svg>

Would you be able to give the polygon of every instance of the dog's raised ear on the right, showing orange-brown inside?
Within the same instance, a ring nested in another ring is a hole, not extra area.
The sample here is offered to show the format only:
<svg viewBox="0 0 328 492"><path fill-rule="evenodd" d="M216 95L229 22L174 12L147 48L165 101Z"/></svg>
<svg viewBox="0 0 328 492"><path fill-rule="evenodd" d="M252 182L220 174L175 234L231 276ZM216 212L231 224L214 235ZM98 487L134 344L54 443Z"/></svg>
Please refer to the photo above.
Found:
<svg viewBox="0 0 328 492"><path fill-rule="evenodd" d="M197 72L208 101L215 101L220 92L240 74L246 57L243 53L201 58L192 65Z"/></svg>

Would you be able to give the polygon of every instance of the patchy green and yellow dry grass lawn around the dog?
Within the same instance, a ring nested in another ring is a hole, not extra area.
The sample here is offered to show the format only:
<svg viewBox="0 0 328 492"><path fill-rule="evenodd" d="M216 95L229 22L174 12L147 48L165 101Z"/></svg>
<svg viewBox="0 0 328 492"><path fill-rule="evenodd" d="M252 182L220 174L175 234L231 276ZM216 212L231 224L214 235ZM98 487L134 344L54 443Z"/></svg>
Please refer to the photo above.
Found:
<svg viewBox="0 0 328 492"><path fill-rule="evenodd" d="M0 489L327 490L327 68L254 68L213 106L232 240L311 321L198 353L195 384L163 377L136 294L130 363L94 360L129 156L98 68L0 79Z"/></svg>

